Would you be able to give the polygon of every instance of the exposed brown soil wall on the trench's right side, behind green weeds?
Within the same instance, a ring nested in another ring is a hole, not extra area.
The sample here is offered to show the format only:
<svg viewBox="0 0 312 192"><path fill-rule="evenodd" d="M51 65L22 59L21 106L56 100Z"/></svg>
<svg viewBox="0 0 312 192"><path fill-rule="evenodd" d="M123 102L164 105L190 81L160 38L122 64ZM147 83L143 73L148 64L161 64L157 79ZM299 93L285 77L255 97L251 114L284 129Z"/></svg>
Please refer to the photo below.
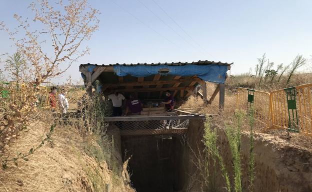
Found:
<svg viewBox="0 0 312 192"><path fill-rule="evenodd" d="M189 146L194 150L202 151L203 123L192 120L187 133ZM232 158L229 152L228 143L223 130L218 130L219 146L227 166L232 173ZM241 138L242 164L243 167L243 189L247 191L247 170L249 156L249 133L243 132ZM294 146L285 140L269 134L254 134L255 152L255 175L253 192L312 192L312 153L311 150ZM190 157L185 160L185 185L184 190L189 186L189 175L196 171L192 159L194 154L190 150L185 152ZM231 176L232 177L232 176ZM198 178L197 178L198 179ZM224 182L220 173L216 176L218 191L224 191ZM195 185L190 191L201 191L200 185Z"/></svg>

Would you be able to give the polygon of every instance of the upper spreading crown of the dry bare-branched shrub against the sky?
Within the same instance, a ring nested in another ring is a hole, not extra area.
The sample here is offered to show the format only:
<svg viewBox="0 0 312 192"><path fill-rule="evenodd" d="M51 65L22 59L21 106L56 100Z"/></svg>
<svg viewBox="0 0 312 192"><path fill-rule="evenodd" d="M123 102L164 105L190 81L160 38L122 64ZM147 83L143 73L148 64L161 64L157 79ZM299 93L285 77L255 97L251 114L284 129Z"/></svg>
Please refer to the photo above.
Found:
<svg viewBox="0 0 312 192"><path fill-rule="evenodd" d="M18 51L29 62L30 70L34 72L32 79L37 79L38 85L48 77L63 73L79 57L89 53L88 47L80 50L81 43L98 29L98 10L91 8L87 0L67 2L57 0L55 4L50 4L48 0L37 0L30 4L34 12L32 20L43 24L41 30L31 31L32 23L14 14L19 22L18 28L24 34L20 39L17 38L20 31L11 31L4 22L0 23L0 28L8 32Z"/></svg>

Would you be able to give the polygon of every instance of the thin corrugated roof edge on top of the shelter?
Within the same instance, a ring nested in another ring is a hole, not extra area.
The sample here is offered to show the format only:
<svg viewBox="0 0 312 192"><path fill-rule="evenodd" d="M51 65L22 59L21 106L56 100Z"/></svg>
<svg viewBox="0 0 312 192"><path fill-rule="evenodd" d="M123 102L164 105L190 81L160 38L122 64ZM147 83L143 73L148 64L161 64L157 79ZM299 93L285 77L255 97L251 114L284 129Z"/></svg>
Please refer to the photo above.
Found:
<svg viewBox="0 0 312 192"><path fill-rule="evenodd" d="M229 66L229 65L231 65L231 64L233 64L233 63L222 63L222 62L220 62L220 61L218 61L218 62L214 62L214 61L208 61L208 60L204 60L204 61L201 61L201 60L199 60L199 61L193 61L193 62L171 62L171 63L167 63L167 62L165 62L165 63L130 63L130 64L125 64L125 63L123 63L123 64L120 64L120 63L116 63L116 64L102 64L102 65L98 65L98 64L90 64L90 63L86 63L86 64L81 64L82 66L83 65L96 65L96 66L114 66L114 65L124 65L124 66L135 66L135 65L150 65L150 66L154 66L154 65L168 65L168 66L174 66L174 65L176 65L176 66L182 66L182 65L190 65L190 64L192 64L192 65L210 65L210 64L217 64L217 65L227 65L227 66ZM81 66L80 65L80 66Z"/></svg>

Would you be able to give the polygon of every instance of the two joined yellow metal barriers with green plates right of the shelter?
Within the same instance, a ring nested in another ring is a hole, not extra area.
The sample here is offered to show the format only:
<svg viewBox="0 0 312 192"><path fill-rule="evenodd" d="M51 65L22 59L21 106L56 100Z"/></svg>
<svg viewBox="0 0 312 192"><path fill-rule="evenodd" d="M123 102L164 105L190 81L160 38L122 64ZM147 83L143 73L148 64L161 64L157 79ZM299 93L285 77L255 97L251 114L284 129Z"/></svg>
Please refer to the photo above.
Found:
<svg viewBox="0 0 312 192"><path fill-rule="evenodd" d="M312 136L311 95L312 83L270 93L238 88L236 108L248 109L253 106L255 118L266 128L288 129ZM264 113L265 110L267 113Z"/></svg>

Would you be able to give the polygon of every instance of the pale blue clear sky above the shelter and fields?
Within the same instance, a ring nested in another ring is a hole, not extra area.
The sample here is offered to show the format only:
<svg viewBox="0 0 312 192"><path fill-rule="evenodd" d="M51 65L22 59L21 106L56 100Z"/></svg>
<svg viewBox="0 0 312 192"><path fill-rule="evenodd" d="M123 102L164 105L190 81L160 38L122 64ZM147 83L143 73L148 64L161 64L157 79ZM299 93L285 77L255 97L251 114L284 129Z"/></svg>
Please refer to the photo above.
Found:
<svg viewBox="0 0 312 192"><path fill-rule="evenodd" d="M17 26L13 14L31 18L31 0L1 0L0 20ZM89 0L99 9L99 29L81 57L62 76L81 79L81 63L158 63L198 60L233 62L231 75L246 73L263 53L289 64L312 56L311 0ZM0 54L16 48L0 31ZM51 49L52 50L52 49ZM2 57L2 60L5 60ZM66 63L64 63L66 65ZM3 68L3 63L0 64Z"/></svg>

